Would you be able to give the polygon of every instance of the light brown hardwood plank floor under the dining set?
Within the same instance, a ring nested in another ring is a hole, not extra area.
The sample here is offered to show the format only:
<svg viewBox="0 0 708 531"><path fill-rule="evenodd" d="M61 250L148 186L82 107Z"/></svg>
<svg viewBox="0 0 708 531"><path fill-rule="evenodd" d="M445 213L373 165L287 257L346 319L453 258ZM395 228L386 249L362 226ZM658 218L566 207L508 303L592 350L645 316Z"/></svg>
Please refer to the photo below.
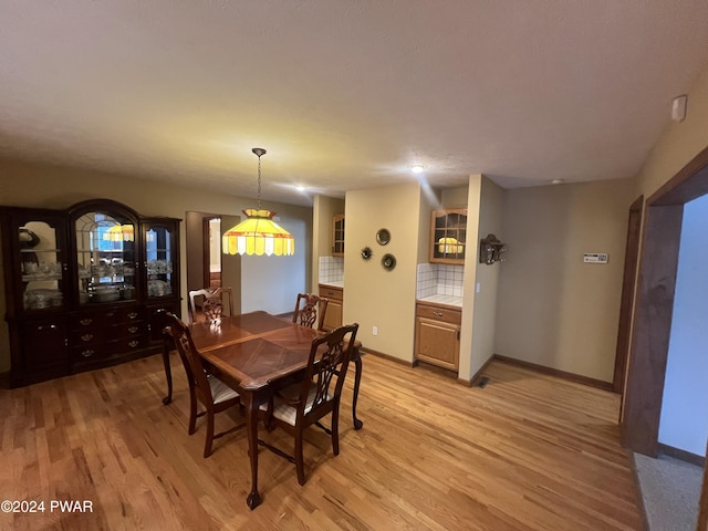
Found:
<svg viewBox="0 0 708 531"><path fill-rule="evenodd" d="M13 530L639 530L631 459L620 446L618 396L493 362L483 388L364 356L360 418L343 394L341 454L313 428L308 483L260 452L263 504L250 490L246 433L215 441L204 420L187 435L177 357L175 400L159 356L0 392L0 499L45 502L44 513L0 513ZM217 417L217 429L240 421ZM260 436L290 450L280 431ZM50 512L88 500L93 512Z"/></svg>

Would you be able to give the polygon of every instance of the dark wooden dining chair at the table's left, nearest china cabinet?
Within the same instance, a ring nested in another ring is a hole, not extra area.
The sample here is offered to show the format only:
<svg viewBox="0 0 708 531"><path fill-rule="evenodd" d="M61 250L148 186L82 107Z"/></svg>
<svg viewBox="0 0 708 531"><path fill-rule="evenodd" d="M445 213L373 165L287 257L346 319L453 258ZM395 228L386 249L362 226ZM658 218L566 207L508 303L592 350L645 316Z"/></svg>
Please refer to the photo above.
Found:
<svg viewBox="0 0 708 531"><path fill-rule="evenodd" d="M204 457L206 458L211 455L214 439L244 427L244 425L239 425L226 431L214 434L215 414L240 405L241 399L236 391L205 371L191 340L189 327L173 313L168 313L167 317L170 324L165 329L165 332L170 334L175 341L177 352L185 366L185 373L187 373L187 382L189 383L189 435L196 431L197 417L207 416L207 437L204 445ZM198 402L204 405L204 412L197 413Z"/></svg>

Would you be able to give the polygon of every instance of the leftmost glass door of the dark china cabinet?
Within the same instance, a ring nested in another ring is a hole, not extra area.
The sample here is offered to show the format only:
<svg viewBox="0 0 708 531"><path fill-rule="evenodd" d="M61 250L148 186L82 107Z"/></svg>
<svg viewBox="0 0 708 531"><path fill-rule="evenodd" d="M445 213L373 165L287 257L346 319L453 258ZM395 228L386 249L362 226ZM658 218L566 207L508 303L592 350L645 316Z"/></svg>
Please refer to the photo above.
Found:
<svg viewBox="0 0 708 531"><path fill-rule="evenodd" d="M21 290L20 312L41 313L65 306L66 238L63 219L20 219L15 226Z"/></svg>

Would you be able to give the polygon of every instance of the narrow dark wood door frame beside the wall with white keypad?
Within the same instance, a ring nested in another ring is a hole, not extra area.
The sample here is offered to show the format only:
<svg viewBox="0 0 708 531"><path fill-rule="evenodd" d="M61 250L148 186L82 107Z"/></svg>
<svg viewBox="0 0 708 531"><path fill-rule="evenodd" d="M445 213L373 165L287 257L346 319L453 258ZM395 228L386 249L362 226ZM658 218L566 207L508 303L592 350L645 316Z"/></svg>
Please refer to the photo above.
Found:
<svg viewBox="0 0 708 531"><path fill-rule="evenodd" d="M642 233L642 214L644 196L639 196L629 207L627 222L627 242L625 247L624 274L622 280L622 299L620 303L620 324L617 326L617 347L615 351L615 374L612 391L622 393L627 357L629 356L629 337L632 332L632 312L634 310L634 292L637 280L637 262L639 260L639 236ZM622 416L622 413L620 413Z"/></svg>

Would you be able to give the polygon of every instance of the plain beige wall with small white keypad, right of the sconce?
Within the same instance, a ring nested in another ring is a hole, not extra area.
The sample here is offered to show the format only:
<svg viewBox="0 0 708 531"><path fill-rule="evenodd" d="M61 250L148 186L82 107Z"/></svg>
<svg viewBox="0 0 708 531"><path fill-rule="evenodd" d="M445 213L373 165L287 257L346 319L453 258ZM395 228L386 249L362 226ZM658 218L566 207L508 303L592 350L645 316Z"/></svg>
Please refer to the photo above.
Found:
<svg viewBox="0 0 708 531"><path fill-rule="evenodd" d="M634 199L631 179L506 190L496 354L613 381Z"/></svg>

